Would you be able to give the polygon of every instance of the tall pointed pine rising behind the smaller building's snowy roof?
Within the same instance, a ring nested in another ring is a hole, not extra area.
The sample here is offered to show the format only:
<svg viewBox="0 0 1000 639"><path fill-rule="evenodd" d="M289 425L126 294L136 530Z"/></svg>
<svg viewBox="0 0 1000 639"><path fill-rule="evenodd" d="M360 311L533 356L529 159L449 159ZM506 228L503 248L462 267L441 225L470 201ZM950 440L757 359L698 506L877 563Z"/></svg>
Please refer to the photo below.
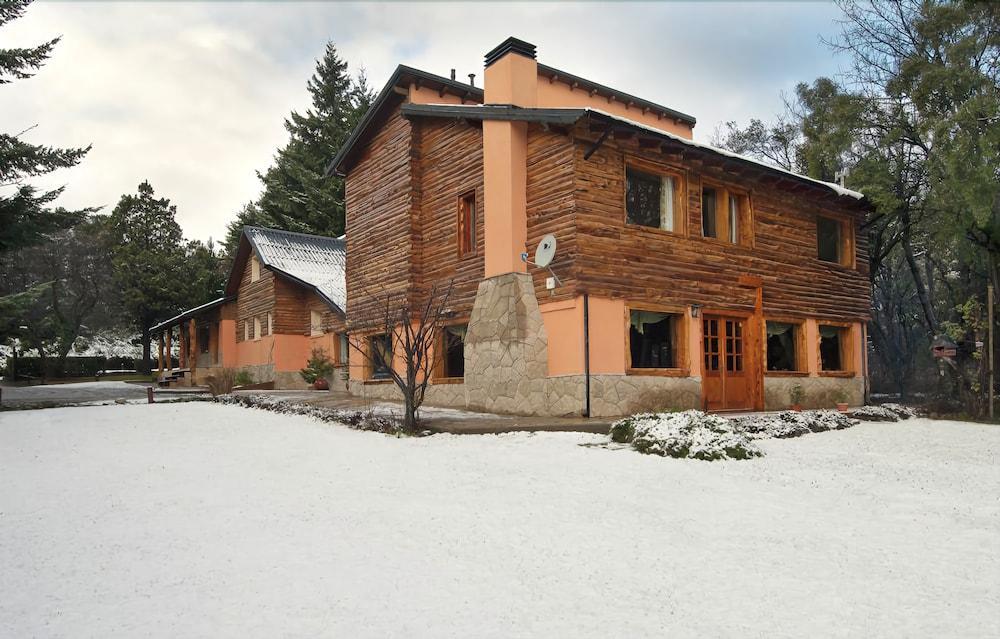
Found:
<svg viewBox="0 0 1000 639"><path fill-rule="evenodd" d="M274 166L258 174L265 226L337 236L344 232L344 181L326 167L374 100L364 73L352 81L333 43L316 63L307 88L312 106L285 120L288 143ZM246 211L246 210L245 210ZM238 236L238 234L237 234Z"/></svg>

